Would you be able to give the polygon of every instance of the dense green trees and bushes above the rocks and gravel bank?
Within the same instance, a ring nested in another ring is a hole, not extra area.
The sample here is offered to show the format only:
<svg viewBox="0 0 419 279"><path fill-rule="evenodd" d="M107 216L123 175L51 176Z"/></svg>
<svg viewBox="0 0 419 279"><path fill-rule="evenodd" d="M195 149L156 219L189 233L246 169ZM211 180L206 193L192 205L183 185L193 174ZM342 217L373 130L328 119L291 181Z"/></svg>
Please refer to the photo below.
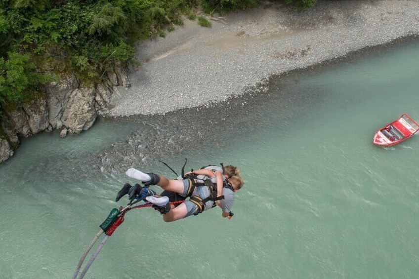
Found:
<svg viewBox="0 0 419 279"><path fill-rule="evenodd" d="M294 2L293 0L286 0ZM311 3L314 0L296 0ZM0 104L21 104L66 72L98 82L129 62L134 42L164 36L180 16L254 6L256 0L1 0Z"/></svg>

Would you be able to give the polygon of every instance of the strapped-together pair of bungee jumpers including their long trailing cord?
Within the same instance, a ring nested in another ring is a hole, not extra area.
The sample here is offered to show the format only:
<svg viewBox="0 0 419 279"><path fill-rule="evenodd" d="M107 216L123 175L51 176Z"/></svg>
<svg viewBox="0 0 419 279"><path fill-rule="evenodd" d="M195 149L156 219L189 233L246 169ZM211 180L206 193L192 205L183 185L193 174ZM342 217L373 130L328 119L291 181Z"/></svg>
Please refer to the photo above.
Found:
<svg viewBox="0 0 419 279"><path fill-rule="evenodd" d="M234 194L244 184L240 176L240 170L232 165L224 167L221 164L221 167L209 165L199 170L191 170L184 173L185 164L182 167L182 174L177 179L168 179L165 176L154 173L143 173L134 168L126 171L128 177L140 180L144 186L142 187L139 184L131 186L129 183L126 183L118 192L116 201L128 195L128 204L125 207L121 206L119 209L113 208L106 220L99 226L100 231L92 239L80 258L76 271L73 274L73 279L77 279L79 274L79 279L84 278L105 242L112 236L118 226L124 222L126 212L131 209L154 207L154 209L163 214L164 221L171 222L191 215L197 215L218 205L222 209L222 216L231 219L233 216L231 207L234 203ZM173 169L171 170L173 171ZM176 174L176 172L174 173ZM157 195L155 191L148 189L150 185L158 185L164 191L161 195ZM188 197L189 199L186 200ZM147 202L144 204L135 205L140 201L146 200ZM105 237L99 242L96 251L90 256L82 273L80 273L87 254L102 234L105 234Z"/></svg>

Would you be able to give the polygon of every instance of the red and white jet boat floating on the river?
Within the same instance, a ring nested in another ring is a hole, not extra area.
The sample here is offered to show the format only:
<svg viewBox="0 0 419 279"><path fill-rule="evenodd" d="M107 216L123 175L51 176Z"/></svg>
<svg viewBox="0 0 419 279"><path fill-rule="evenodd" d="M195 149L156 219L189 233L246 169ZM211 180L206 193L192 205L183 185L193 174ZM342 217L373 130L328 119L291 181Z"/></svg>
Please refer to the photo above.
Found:
<svg viewBox="0 0 419 279"><path fill-rule="evenodd" d="M373 144L392 146L407 140L419 131L419 124L408 114L402 114L397 120L380 128L374 135Z"/></svg>

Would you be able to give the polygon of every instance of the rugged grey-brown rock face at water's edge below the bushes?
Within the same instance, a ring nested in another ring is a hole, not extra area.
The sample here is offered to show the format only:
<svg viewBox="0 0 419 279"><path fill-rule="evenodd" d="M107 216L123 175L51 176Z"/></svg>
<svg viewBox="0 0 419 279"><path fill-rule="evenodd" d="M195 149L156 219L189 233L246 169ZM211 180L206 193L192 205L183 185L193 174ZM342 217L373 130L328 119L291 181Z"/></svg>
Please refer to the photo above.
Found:
<svg viewBox="0 0 419 279"><path fill-rule="evenodd" d="M44 97L23 107L2 108L0 115L0 162L13 156L20 140L54 129L60 135L80 133L90 128L98 114L107 111L107 104L116 86L129 87L127 72L118 68L108 80L94 86L83 86L73 75L51 82Z"/></svg>

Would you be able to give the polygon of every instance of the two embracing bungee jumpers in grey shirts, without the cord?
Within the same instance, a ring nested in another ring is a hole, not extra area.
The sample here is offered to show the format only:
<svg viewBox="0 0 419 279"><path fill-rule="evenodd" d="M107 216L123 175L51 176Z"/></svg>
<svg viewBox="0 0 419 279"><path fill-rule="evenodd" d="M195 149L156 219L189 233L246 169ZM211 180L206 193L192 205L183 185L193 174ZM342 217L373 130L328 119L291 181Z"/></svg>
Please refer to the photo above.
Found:
<svg viewBox="0 0 419 279"><path fill-rule="evenodd" d="M146 200L163 215L165 222L197 215L216 205L222 209L222 217L231 217L234 194L244 184L239 169L231 165L225 168L210 165L185 174L182 168L182 175L177 179L168 179L154 173L144 173L135 168L129 168L126 175L140 180L144 187L139 184L131 186L127 183L119 191L116 201L125 195L128 195L128 198L132 200L136 195L144 193L144 188L158 185L165 190L163 195L150 195L146 197ZM189 197L189 199L174 206L169 203L169 197L175 199Z"/></svg>

